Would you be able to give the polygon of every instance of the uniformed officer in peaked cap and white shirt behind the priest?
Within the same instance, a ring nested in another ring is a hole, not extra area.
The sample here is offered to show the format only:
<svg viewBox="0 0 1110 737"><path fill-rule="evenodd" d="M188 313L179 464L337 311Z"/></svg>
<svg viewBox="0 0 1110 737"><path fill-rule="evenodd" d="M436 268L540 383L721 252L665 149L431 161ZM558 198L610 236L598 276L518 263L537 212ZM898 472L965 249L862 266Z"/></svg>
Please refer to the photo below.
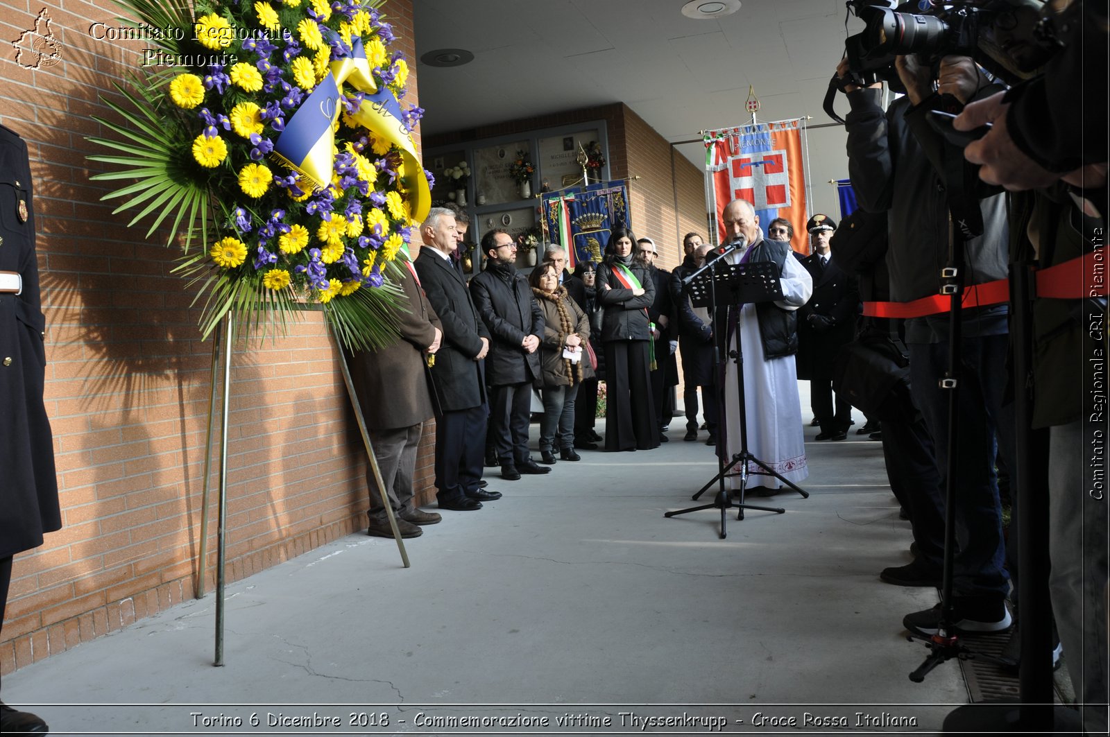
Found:
<svg viewBox="0 0 1110 737"><path fill-rule="evenodd" d="M836 397L833 411L833 364L836 354L856 332L859 313L859 283L833 260L829 239L836 222L816 214L806 223L813 253L801 264L814 279L814 295L798 311L798 364L808 368L809 394L814 413L820 420L819 441L842 441L851 424L851 404Z"/></svg>

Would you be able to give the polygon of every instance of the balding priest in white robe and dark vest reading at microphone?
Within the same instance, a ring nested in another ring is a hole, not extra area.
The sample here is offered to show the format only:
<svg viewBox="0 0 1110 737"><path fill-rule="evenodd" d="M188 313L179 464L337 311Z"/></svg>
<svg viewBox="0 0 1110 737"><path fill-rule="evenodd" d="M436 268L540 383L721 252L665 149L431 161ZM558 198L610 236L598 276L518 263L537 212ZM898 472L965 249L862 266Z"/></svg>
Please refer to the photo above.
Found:
<svg viewBox="0 0 1110 737"><path fill-rule="evenodd" d="M797 352L797 319L795 311L804 305L814 290L814 282L790 252L788 243L764 239L759 216L751 203L733 200L725 206L722 220L727 241L743 238L745 245L725 256L731 263L771 261L778 264L783 296L780 302L761 305L745 304L736 329L728 336L729 349L739 333L744 355L744 387L747 415L748 452L787 481L797 484L809 475L806 467L805 435L798 377L794 354ZM736 363L728 361L725 370L725 443L718 452L727 453L726 462L740 452L739 397L736 386ZM733 467L733 489L743 481L739 465ZM784 484L754 462L748 462L747 494L769 496Z"/></svg>

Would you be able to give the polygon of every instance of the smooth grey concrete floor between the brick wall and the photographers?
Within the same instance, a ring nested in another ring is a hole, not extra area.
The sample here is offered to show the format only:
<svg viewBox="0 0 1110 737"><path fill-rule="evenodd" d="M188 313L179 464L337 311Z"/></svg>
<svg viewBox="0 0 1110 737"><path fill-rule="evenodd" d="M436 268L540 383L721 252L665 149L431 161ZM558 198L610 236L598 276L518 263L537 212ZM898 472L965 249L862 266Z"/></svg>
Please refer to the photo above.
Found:
<svg viewBox="0 0 1110 737"><path fill-rule="evenodd" d="M953 663L907 677L926 650L901 618L938 598L878 579L910 559L880 444L806 427L811 496L730 515L719 539L716 511L663 516L716 473L683 432L676 418L657 451L583 452L518 482L491 470L505 497L444 512L406 542L408 569L392 539L353 535L229 586L225 667L209 594L6 677L4 700L53 734L519 734L501 721L517 714L548 720L533 734L684 714L646 730L704 733L690 719L713 716L724 731L811 731L807 713L844 718L837 734L938 731L967 691ZM289 719L314 714L340 726Z"/></svg>

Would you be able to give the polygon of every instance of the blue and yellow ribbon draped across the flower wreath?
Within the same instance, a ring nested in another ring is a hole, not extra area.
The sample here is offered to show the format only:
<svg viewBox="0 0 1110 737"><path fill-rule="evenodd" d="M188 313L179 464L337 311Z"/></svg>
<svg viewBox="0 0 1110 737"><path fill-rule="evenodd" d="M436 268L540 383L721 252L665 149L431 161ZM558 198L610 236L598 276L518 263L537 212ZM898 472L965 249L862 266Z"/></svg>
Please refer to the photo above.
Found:
<svg viewBox="0 0 1110 737"><path fill-rule="evenodd" d="M334 125L342 105L341 91L347 83L366 93L362 105L351 118L374 134L401 149L404 162L404 190L408 193L412 218L424 220L432 205L432 192L424 166L416 154L412 134L405 130L401 104L389 89L379 89L371 72L362 39L352 40L351 55L331 62L327 75L301 103L285 130L274 141L273 157L307 179L315 189L331 184Z"/></svg>

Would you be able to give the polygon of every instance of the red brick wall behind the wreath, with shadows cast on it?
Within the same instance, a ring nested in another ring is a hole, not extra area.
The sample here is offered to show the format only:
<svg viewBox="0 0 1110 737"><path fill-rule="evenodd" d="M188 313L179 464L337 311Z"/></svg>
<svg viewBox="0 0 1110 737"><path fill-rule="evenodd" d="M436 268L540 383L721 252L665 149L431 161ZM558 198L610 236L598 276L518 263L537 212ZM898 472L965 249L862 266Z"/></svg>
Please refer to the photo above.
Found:
<svg viewBox="0 0 1110 737"><path fill-rule="evenodd" d="M103 133L90 115L110 117L100 95L113 95L143 43L90 37L91 23L114 24L109 0L0 0L0 38L33 28L42 7L62 61L22 69L0 44L0 122L27 140L34 175L46 404L64 526L16 557L2 673L194 595L212 355L184 280L170 273L176 252L125 228L130 218L112 215L114 205L99 201L104 185L89 181L102 168L85 155L103 153L85 140ZM390 0L385 11L415 72L412 0ZM236 345L228 441L228 580L365 524L365 454L321 313L305 313L285 337ZM426 487L427 442L418 465ZM397 565L394 556L381 564Z"/></svg>

